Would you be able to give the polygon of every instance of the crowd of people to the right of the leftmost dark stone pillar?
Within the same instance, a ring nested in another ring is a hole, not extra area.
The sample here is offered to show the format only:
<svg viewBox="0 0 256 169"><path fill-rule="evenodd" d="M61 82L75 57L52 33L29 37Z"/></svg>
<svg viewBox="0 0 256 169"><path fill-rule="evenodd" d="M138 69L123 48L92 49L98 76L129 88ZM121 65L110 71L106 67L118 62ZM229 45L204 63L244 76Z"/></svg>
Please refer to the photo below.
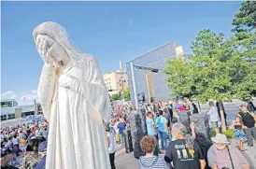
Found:
<svg viewBox="0 0 256 169"><path fill-rule="evenodd" d="M249 162L241 151L247 150L244 148L245 142L248 142L249 147L253 147L253 142L256 141L255 106L251 102L248 106L240 106L240 112L230 126L235 133L239 147L237 149L229 144L225 134L221 134L218 107L213 102L209 102L208 105L209 110L206 114L209 126L216 132L210 143L206 143L203 134L196 134L193 123L192 133L189 134L187 128L178 120L178 115L184 113L183 111L193 112L186 103L183 103L182 108L178 108L177 103L173 104L171 101L159 106L157 111L149 108L148 135L140 143L141 149L145 152L145 156L139 159L140 169L249 169ZM166 135L169 135L169 140ZM159 153L164 154L164 159L158 156Z"/></svg>

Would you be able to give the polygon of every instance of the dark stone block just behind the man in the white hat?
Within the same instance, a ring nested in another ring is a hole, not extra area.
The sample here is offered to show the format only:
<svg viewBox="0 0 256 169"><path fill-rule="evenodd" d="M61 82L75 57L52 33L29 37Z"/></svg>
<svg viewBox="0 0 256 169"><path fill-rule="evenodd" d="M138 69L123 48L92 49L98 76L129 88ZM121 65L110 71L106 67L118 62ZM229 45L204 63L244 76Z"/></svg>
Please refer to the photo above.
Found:
<svg viewBox="0 0 256 169"><path fill-rule="evenodd" d="M209 123L208 123L206 113L192 114L190 119L191 119L191 122L193 122L195 125L195 133L203 134L206 137L206 139L210 139L210 134L209 134L210 129L209 129Z"/></svg>

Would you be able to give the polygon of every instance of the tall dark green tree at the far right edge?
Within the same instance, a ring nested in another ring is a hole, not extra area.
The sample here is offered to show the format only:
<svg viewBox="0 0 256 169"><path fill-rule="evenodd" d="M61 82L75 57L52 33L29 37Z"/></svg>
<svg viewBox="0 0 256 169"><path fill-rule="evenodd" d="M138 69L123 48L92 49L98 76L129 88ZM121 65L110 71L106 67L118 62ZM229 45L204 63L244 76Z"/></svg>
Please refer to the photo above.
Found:
<svg viewBox="0 0 256 169"><path fill-rule="evenodd" d="M233 20L234 44L240 58L234 58L233 92L244 101L256 95L256 2L244 1ZM237 66L239 60L239 67Z"/></svg>

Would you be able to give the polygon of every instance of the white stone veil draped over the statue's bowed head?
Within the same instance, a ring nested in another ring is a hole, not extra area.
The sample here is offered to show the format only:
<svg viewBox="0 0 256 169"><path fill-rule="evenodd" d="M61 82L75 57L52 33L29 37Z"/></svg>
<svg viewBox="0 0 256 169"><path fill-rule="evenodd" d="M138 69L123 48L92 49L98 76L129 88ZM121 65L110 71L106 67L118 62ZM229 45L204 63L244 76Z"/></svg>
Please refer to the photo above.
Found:
<svg viewBox="0 0 256 169"><path fill-rule="evenodd" d="M34 29L33 36L35 42L38 35L49 36L53 41L63 47L72 63L77 63L77 49L72 45L64 27L60 24L52 21L43 22Z"/></svg>

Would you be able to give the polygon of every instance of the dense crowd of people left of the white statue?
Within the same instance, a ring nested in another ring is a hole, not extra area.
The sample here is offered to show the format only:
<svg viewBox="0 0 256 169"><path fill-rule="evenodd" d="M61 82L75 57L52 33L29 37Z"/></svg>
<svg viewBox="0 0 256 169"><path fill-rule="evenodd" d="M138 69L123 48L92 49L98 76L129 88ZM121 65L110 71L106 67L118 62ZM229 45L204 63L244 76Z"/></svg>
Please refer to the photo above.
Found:
<svg viewBox="0 0 256 169"><path fill-rule="evenodd" d="M43 169L48 134L46 120L1 128L1 168Z"/></svg>

